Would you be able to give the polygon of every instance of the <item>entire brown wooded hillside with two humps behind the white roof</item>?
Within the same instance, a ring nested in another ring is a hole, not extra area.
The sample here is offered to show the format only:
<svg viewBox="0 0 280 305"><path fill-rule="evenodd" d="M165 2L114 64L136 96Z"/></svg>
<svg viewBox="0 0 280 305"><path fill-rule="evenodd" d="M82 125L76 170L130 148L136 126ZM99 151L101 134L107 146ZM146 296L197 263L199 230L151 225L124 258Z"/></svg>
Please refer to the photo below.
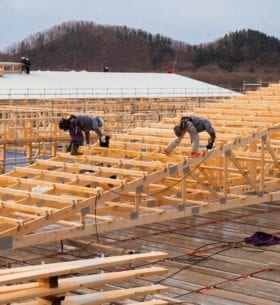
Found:
<svg viewBox="0 0 280 305"><path fill-rule="evenodd" d="M229 33L197 46L126 26L68 22L11 46L0 60L21 56L40 70L176 73L230 87L242 81L278 81L280 40L253 30Z"/></svg>

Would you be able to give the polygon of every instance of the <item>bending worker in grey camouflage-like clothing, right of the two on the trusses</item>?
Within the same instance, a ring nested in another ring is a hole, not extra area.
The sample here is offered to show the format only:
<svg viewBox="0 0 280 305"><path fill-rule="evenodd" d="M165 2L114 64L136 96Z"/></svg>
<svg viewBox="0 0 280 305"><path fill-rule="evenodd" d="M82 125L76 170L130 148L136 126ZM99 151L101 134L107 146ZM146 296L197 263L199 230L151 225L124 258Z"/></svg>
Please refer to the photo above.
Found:
<svg viewBox="0 0 280 305"><path fill-rule="evenodd" d="M194 115L182 117L180 124L174 127L176 138L168 144L164 150L164 153L170 155L176 146L180 144L185 134L189 133L192 143L192 152L190 157L194 158L200 156L199 133L202 131L206 131L210 135L206 149L212 149L215 142L216 133L211 122L206 118L201 118Z"/></svg>

